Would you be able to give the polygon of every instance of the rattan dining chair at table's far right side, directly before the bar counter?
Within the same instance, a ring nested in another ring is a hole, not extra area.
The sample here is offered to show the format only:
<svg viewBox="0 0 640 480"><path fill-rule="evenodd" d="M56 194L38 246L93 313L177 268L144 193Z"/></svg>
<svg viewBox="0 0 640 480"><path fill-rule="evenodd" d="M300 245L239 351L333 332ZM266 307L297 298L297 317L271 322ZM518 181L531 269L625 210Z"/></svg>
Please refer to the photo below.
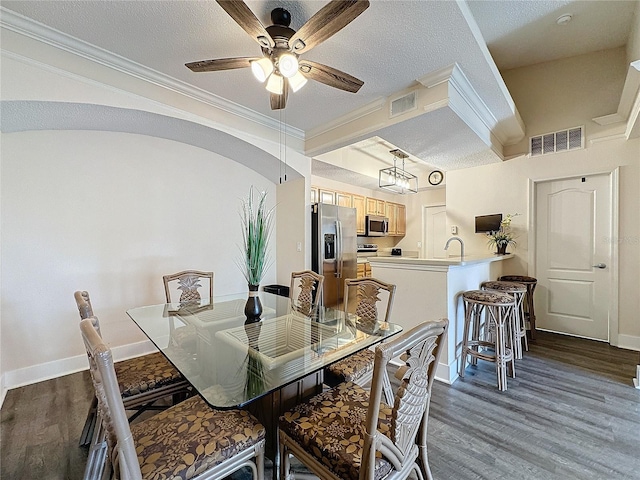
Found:
<svg viewBox="0 0 640 480"><path fill-rule="evenodd" d="M381 322L388 322L396 293L396 286L376 278L346 279L344 284L345 315L355 314L358 328L374 331ZM384 314L381 315L381 313ZM336 386L354 382L360 386L371 381L373 352L361 350L324 370L324 383Z"/></svg>

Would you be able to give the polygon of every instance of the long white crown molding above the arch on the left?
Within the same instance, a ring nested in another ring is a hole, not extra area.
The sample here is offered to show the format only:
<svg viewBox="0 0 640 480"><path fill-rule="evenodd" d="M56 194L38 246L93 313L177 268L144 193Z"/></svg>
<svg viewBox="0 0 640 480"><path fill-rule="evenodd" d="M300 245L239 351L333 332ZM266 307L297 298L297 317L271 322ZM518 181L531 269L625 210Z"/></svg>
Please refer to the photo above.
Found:
<svg viewBox="0 0 640 480"><path fill-rule="evenodd" d="M98 63L140 80L166 88L178 94L205 103L223 112L254 122L263 127L280 131L280 122L267 115L245 108L206 90L190 85L169 75L145 67L133 60L72 37L54 28L0 6L0 27L24 35L54 48L69 52L91 62ZM287 133L304 140L304 131L287 125Z"/></svg>

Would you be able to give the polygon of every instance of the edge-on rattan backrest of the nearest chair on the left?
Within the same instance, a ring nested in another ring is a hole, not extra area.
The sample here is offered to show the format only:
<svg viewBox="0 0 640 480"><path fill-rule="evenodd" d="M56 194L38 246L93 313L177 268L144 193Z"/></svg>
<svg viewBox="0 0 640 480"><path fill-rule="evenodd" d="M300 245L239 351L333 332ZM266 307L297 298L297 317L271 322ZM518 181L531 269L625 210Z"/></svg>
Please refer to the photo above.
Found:
<svg viewBox="0 0 640 480"><path fill-rule="evenodd" d="M98 335L92 320L93 318L82 320L80 331L89 357L89 370L98 399L99 418L107 432L109 456L115 470L115 478L139 480L142 478L140 464L122 403L113 356Z"/></svg>

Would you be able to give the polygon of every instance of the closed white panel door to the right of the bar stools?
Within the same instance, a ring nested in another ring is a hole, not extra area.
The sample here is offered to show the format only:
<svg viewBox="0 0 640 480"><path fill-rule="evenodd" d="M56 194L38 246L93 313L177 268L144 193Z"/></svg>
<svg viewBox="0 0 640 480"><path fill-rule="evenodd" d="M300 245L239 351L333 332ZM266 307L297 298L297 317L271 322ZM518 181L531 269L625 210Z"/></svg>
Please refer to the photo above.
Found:
<svg viewBox="0 0 640 480"><path fill-rule="evenodd" d="M609 175L536 186L536 327L609 340Z"/></svg>

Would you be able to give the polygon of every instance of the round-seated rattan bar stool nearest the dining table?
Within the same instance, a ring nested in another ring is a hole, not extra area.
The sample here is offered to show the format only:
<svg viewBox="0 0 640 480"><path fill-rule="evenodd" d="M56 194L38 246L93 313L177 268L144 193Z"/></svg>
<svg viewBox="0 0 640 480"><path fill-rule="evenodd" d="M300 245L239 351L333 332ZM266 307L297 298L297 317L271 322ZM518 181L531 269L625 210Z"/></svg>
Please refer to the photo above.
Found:
<svg viewBox="0 0 640 480"><path fill-rule="evenodd" d="M460 355L460 378L464 378L467 355L471 356L472 365L476 365L478 359L494 362L498 389L504 391L507 389L507 373L512 378L516 376L511 337L505 334L505 324L509 319L511 308L515 308L515 299L513 295L495 290L470 290L462 294L462 299L464 301L464 336ZM494 342L480 339L483 311L486 312L485 329L490 325L495 328ZM491 348L494 353L490 352Z"/></svg>

